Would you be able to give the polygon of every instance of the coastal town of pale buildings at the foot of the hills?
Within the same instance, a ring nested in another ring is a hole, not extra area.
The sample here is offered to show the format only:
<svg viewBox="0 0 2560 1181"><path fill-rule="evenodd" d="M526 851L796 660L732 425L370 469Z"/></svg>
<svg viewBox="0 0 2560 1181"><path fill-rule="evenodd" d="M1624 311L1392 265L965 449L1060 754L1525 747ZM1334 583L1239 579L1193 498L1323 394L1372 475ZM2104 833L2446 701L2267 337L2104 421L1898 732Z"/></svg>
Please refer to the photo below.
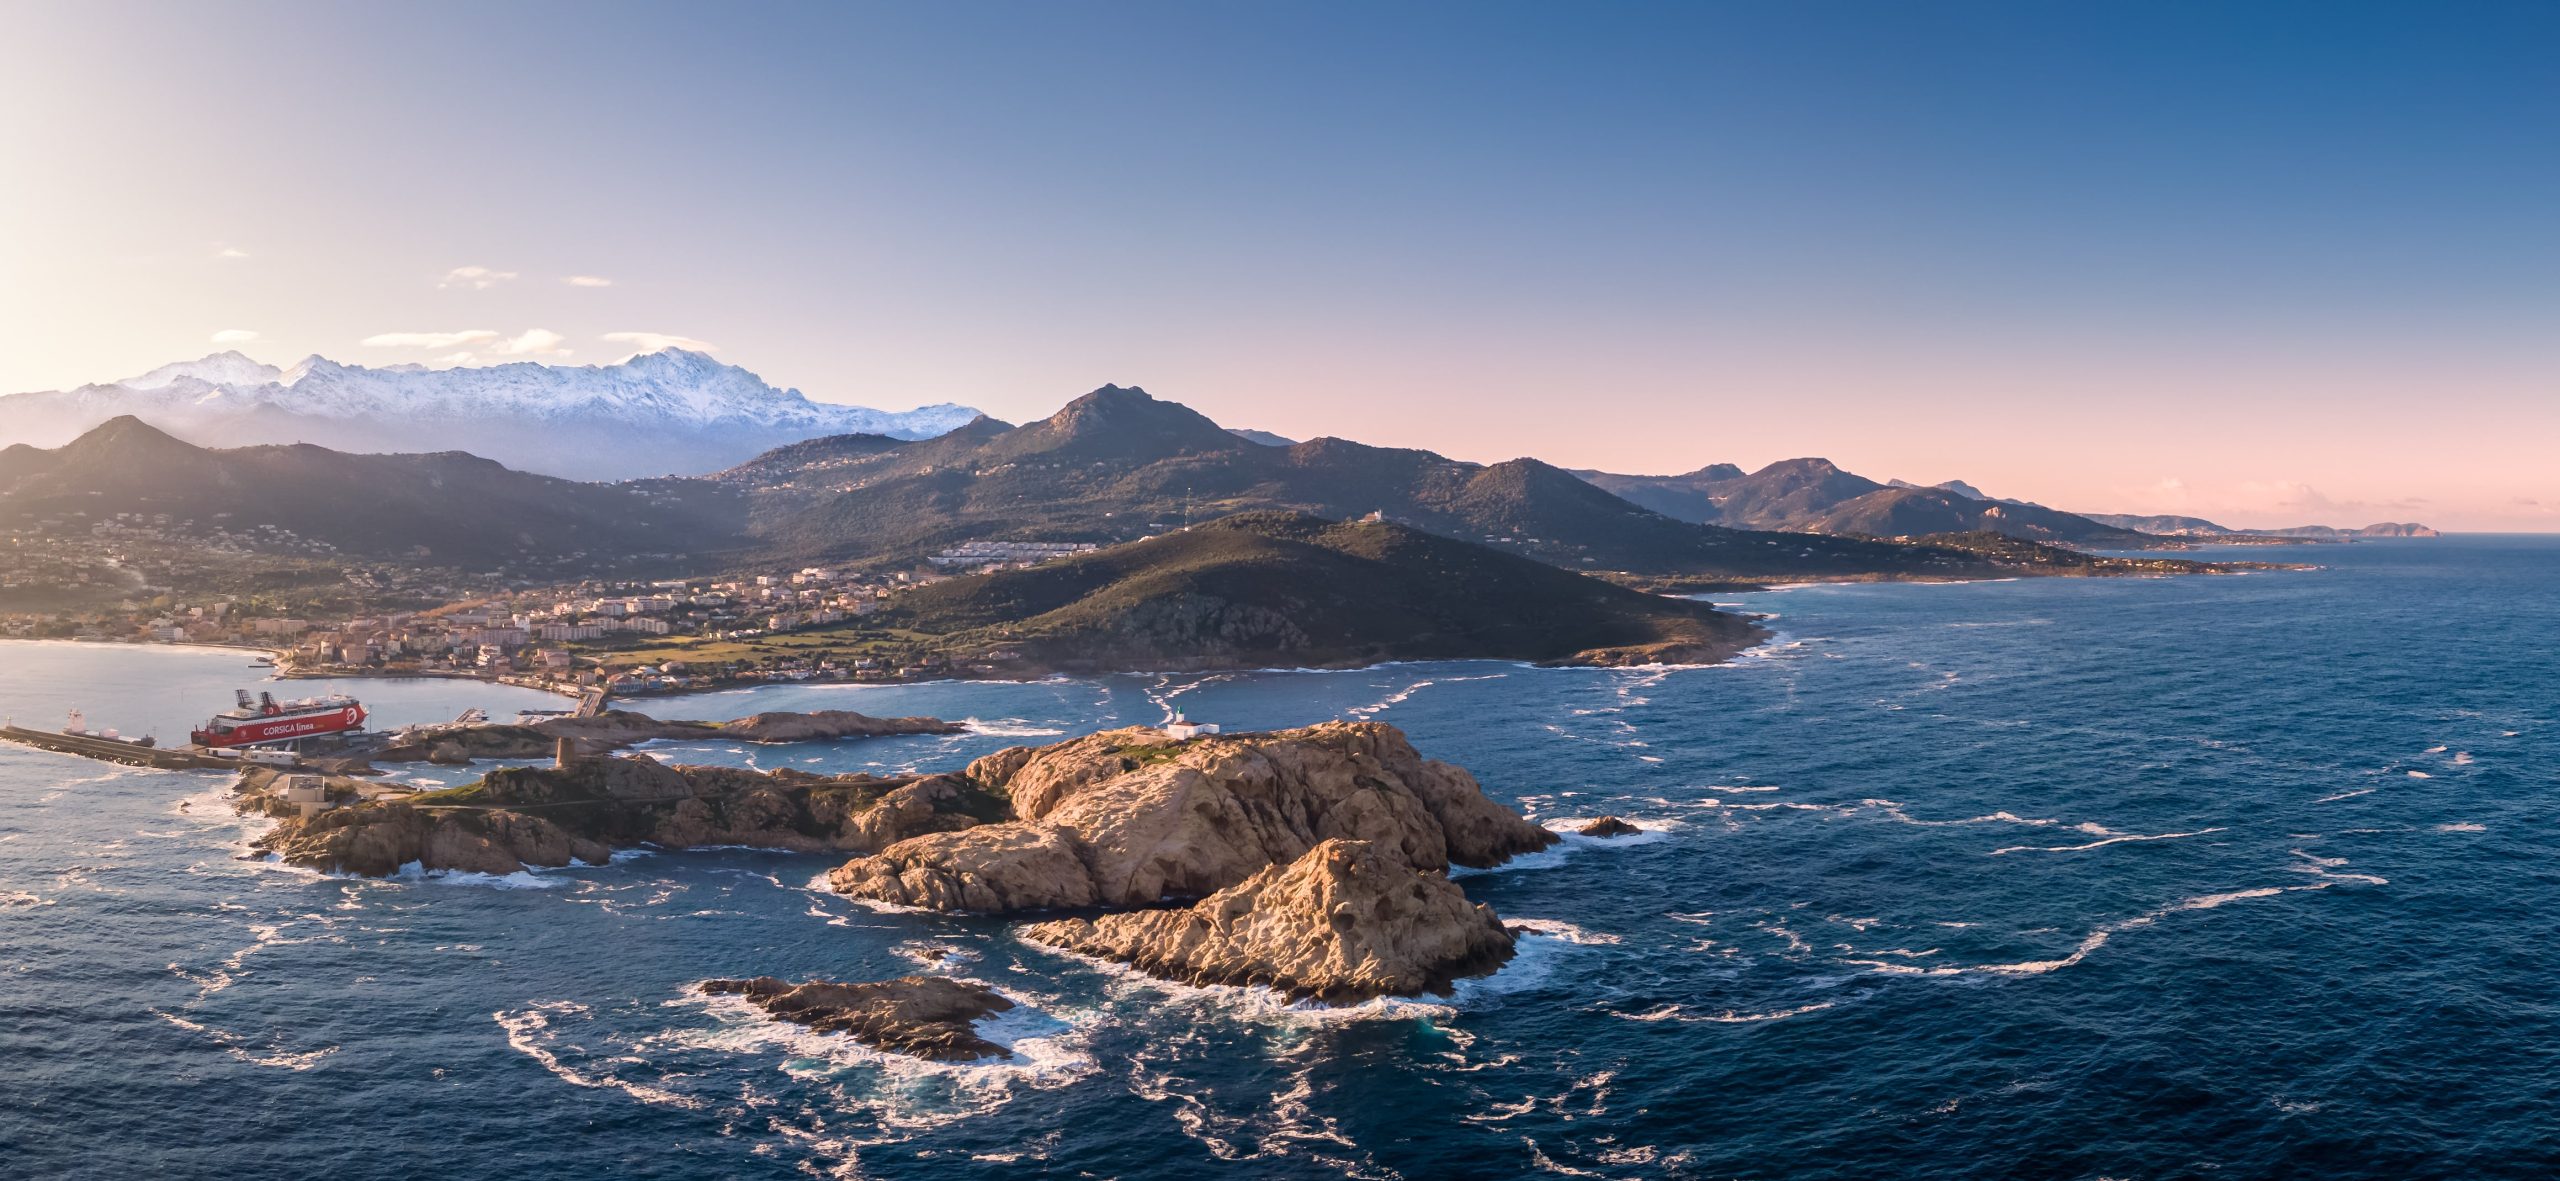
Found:
<svg viewBox="0 0 2560 1181"><path fill-rule="evenodd" d="M899 594L1096 551L1080 541L968 541L911 569L806 564L512 587L502 576L328 564L300 538L207 541L189 525L115 515L77 533L49 523L0 535L0 594L90 592L69 605L0 597L0 638L238 646L271 653L279 676L468 676L571 697L906 681L970 669L929 635L865 625ZM335 576L284 587L197 576L246 558L317 561Z"/></svg>

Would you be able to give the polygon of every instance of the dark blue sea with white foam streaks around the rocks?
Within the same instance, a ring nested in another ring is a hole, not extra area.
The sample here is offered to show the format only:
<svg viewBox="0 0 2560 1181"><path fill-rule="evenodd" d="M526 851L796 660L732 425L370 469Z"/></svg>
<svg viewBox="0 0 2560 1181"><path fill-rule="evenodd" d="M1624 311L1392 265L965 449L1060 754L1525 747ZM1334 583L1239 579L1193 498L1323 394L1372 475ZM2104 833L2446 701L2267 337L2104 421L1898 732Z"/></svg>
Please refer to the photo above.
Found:
<svg viewBox="0 0 2560 1181"><path fill-rule="evenodd" d="M1172 710L1359 717L1554 827L1644 827L1464 874L1531 930L1521 956L1341 1009L865 909L812 889L822 856L317 876L241 861L256 825L220 774L0 748L0 1173L2560 1173L2560 538L2230 556L2317 569L1728 594L1772 640L1708 669L643 702L973 728L650 751L809 771ZM238 651L8 643L0 712L166 740L261 676ZM340 689L376 725L561 705ZM1014 997L988 1027L1014 1058L881 1055L691 991L911 971Z"/></svg>

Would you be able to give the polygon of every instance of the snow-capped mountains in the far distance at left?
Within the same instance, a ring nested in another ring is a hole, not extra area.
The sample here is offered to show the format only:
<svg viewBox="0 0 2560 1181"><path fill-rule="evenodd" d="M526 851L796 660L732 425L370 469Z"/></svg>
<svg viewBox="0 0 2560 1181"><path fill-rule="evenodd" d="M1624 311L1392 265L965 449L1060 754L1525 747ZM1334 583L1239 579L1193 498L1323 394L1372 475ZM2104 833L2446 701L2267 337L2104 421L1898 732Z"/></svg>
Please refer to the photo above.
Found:
<svg viewBox="0 0 2560 1181"><path fill-rule="evenodd" d="M950 402L904 412L812 402L681 348L604 366L481 369L366 369L325 356L276 369L225 351L123 382L0 397L0 446L61 446L115 415L200 446L471 451L571 479L719 471L804 438L932 438L978 418Z"/></svg>

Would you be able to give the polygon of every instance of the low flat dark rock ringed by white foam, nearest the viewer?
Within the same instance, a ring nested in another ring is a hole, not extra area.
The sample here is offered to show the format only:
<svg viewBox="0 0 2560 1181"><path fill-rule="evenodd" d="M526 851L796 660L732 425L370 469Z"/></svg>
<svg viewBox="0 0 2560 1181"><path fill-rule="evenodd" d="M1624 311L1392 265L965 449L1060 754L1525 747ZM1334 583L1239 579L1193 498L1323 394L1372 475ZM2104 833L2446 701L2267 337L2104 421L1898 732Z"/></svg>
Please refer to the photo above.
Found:
<svg viewBox="0 0 2560 1181"><path fill-rule="evenodd" d="M750 981L701 981L709 997L745 997L768 1014L819 1032L845 1032L876 1050L934 1061L1011 1058L1014 1053L978 1038L980 1017L1011 1009L1014 1002L978 981L950 976L899 976L893 981L791 984L773 976Z"/></svg>

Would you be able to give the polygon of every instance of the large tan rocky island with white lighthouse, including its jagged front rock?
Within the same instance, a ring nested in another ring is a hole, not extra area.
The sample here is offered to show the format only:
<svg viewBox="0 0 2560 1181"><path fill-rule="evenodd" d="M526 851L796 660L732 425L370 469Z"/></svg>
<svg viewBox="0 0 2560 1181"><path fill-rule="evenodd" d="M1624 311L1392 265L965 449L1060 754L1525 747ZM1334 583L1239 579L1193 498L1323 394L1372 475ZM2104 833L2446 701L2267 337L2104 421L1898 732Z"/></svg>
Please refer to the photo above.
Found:
<svg viewBox="0 0 2560 1181"><path fill-rule="evenodd" d="M1556 840L1382 722L1108 730L998 751L960 779L1004 797L1009 820L899 840L829 886L927 909L1121 909L1024 938L1293 999L1418 997L1500 968L1513 933L1446 871Z"/></svg>

